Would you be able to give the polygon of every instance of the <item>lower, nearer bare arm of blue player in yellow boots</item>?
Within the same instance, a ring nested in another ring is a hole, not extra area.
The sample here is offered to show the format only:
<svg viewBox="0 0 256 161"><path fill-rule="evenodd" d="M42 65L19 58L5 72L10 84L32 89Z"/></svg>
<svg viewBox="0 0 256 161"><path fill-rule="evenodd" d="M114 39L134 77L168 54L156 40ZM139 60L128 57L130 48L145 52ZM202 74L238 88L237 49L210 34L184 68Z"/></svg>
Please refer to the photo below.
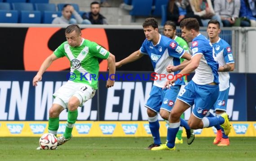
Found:
<svg viewBox="0 0 256 161"><path fill-rule="evenodd" d="M182 69L181 72L175 75L175 79L167 80L165 82L165 84L163 85L163 89L170 88L170 85L172 85L177 79L181 78L182 76L188 75L190 72L198 68L202 56L202 54L194 55L193 58L190 60L191 62L184 69Z"/></svg>

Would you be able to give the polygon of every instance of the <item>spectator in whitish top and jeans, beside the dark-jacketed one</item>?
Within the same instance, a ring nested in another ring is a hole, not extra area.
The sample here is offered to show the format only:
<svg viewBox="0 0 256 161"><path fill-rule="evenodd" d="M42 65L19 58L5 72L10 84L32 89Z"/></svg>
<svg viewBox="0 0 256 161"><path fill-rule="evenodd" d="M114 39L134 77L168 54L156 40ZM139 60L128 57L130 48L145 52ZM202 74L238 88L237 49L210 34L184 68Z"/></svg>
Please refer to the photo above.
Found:
<svg viewBox="0 0 256 161"><path fill-rule="evenodd" d="M194 14L201 17L203 26L207 26L208 22L211 19L219 21L220 25L223 26L220 15L216 15L214 12L211 0L189 0L189 1Z"/></svg>

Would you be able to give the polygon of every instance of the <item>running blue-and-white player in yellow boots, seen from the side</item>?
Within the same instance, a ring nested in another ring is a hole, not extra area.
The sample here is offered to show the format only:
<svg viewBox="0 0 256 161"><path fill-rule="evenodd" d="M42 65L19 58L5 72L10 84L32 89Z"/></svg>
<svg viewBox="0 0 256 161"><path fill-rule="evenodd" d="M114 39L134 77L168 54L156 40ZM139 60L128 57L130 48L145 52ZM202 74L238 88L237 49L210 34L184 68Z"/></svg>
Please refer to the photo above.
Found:
<svg viewBox="0 0 256 161"><path fill-rule="evenodd" d="M154 147L151 150L175 150L175 138L179 130L180 117L190 106L195 105L188 120L192 129L202 129L218 124L224 127L225 133L230 133L230 123L227 114L218 117L205 117L212 108L219 94L218 68L212 44L199 32L199 22L195 18L186 18L181 21L181 36L192 42L192 58L189 62L180 64L183 68L179 74L188 74L195 70L192 80L178 95L172 108L169 127L167 130L167 144ZM184 68L185 67L185 68ZM179 76L179 75L177 75ZM166 81L164 87L169 88L174 81Z"/></svg>

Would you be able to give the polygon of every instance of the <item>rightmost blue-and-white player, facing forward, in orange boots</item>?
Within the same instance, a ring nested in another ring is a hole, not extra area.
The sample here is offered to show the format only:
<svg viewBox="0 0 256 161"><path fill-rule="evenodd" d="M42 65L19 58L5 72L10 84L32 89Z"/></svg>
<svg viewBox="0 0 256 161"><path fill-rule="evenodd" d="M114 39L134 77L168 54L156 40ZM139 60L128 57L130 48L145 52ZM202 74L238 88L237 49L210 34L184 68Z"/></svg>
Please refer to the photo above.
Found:
<svg viewBox="0 0 256 161"><path fill-rule="evenodd" d="M230 90L229 71L234 70L234 59L230 44L219 37L220 33L221 29L219 21L209 21L207 26L207 34L215 50L216 60L219 63L218 73L220 81L220 93L213 107L213 110L215 110L217 116L225 113L227 110L227 101ZM209 113L208 117L214 117L214 115ZM221 128L221 126L215 127L217 129L217 135L213 141L213 144L218 144L218 146L229 145L230 140L228 136L225 135L223 128Z"/></svg>

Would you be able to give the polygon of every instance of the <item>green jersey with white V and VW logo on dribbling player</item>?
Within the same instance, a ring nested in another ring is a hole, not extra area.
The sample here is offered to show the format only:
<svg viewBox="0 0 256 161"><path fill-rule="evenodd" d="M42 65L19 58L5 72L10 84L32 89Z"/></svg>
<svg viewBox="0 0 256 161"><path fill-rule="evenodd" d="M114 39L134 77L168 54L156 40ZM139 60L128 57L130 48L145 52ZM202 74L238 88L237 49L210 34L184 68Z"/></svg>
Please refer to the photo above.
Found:
<svg viewBox="0 0 256 161"><path fill-rule="evenodd" d="M99 72L98 59L108 59L110 52L83 38L79 47L71 47L63 42L54 52L58 58L66 56L70 61L70 72L75 76L74 82L85 83L97 89Z"/></svg>

